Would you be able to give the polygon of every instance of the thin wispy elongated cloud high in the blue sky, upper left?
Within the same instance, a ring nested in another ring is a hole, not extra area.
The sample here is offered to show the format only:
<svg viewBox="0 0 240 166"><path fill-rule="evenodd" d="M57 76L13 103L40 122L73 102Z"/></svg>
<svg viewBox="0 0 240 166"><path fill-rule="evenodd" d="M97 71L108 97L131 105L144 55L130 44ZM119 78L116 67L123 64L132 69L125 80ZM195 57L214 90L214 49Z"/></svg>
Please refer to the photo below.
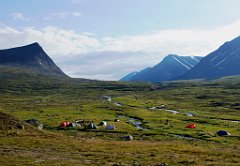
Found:
<svg viewBox="0 0 240 166"><path fill-rule="evenodd" d="M50 13L47 16L43 17L43 20L51 20L51 19L65 19L67 17L80 17L82 15L81 12L58 12L58 13Z"/></svg>

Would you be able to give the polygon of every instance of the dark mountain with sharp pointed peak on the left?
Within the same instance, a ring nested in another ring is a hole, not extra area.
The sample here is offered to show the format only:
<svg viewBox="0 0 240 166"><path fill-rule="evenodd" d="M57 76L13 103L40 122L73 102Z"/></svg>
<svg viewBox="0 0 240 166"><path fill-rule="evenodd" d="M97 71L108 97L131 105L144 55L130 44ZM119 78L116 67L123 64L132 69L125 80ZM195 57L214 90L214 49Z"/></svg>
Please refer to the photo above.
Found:
<svg viewBox="0 0 240 166"><path fill-rule="evenodd" d="M0 66L48 76L68 77L38 43L0 50Z"/></svg>

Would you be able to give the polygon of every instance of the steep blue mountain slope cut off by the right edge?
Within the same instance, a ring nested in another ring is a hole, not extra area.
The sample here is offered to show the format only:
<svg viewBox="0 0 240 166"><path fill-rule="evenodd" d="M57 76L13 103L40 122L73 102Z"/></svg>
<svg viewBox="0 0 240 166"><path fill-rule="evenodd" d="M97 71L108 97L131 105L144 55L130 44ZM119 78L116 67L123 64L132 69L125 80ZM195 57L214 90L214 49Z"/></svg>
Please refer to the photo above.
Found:
<svg viewBox="0 0 240 166"><path fill-rule="evenodd" d="M224 43L176 80L215 79L240 75L240 36Z"/></svg>

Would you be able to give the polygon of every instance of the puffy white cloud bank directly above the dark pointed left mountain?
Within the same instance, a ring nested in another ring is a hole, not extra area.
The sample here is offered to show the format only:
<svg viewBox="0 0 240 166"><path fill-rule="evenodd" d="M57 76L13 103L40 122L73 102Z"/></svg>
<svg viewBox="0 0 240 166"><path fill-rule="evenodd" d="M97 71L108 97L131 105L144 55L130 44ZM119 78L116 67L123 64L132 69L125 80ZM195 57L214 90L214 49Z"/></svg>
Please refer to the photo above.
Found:
<svg viewBox="0 0 240 166"><path fill-rule="evenodd" d="M90 52L101 45L95 37L56 27L45 27L39 30L25 28L22 31L4 27L0 28L0 35L0 47L2 49L39 42L58 61Z"/></svg>

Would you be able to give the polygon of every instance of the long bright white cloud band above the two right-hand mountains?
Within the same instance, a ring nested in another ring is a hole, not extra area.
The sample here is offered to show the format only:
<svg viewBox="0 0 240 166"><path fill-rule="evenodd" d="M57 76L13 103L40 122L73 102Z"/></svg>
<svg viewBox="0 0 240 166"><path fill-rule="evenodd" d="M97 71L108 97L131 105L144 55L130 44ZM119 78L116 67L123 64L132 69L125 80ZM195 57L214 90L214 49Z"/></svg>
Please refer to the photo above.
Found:
<svg viewBox="0 0 240 166"><path fill-rule="evenodd" d="M103 50L206 55L240 35L240 22L215 29L169 29L135 36L105 37Z"/></svg>

